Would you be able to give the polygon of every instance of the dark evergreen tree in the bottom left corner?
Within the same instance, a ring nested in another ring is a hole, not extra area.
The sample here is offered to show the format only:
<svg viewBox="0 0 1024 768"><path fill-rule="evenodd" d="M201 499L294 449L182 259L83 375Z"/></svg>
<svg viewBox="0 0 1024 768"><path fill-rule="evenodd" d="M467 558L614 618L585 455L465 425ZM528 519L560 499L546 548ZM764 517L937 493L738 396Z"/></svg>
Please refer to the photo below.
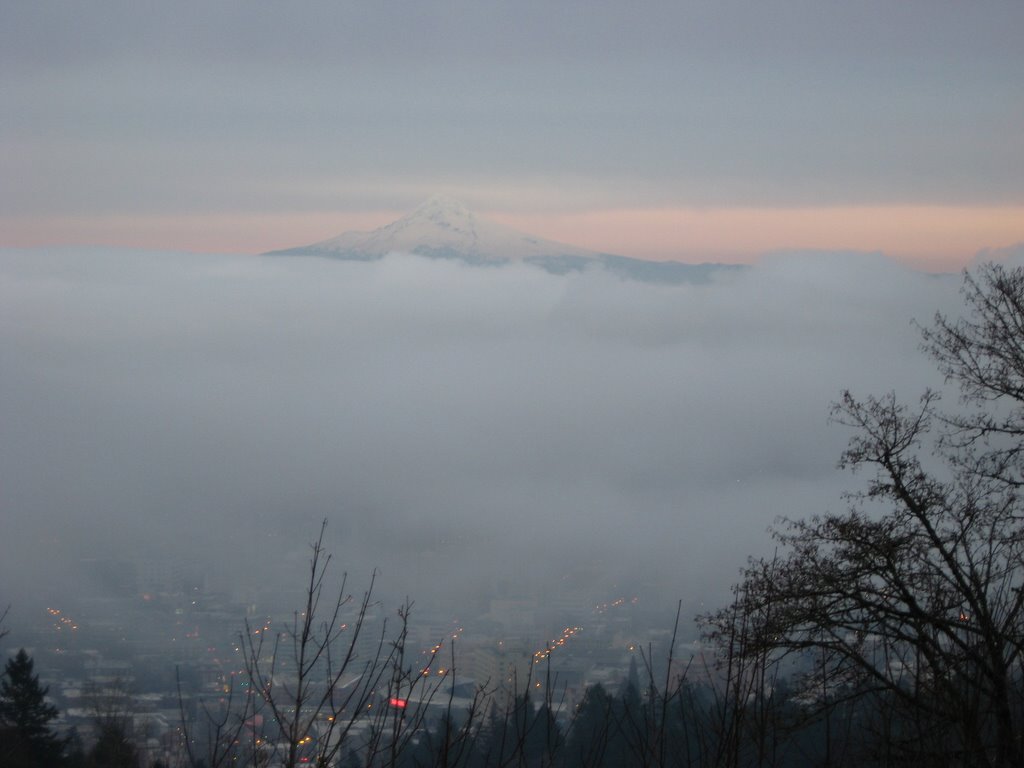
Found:
<svg viewBox="0 0 1024 768"><path fill-rule="evenodd" d="M54 766L61 762L66 740L50 729L57 710L46 702L49 688L33 674L32 657L23 648L7 660L0 679L0 763L5 766Z"/></svg>

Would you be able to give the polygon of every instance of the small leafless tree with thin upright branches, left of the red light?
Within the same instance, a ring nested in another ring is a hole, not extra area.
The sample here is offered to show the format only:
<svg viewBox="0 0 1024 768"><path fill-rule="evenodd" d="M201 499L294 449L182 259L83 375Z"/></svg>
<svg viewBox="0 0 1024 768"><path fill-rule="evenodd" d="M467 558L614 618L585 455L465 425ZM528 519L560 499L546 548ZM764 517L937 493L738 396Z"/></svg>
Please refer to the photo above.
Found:
<svg viewBox="0 0 1024 768"><path fill-rule="evenodd" d="M369 634L375 579L358 600L345 574L337 590L329 587L326 528L325 520L311 544L301 609L284 629L272 620L246 622L238 646L243 685L231 680L216 703L201 699L189 708L179 681L182 735L194 767L330 766L342 757L396 766L425 731L428 711L443 695L446 678L434 670L443 643L425 663L408 652L410 601L398 608L393 629L384 621ZM445 672L454 676L452 654ZM452 728L445 749L461 754L475 736L482 692L467 713L455 712L453 701L450 694L442 708Z"/></svg>

